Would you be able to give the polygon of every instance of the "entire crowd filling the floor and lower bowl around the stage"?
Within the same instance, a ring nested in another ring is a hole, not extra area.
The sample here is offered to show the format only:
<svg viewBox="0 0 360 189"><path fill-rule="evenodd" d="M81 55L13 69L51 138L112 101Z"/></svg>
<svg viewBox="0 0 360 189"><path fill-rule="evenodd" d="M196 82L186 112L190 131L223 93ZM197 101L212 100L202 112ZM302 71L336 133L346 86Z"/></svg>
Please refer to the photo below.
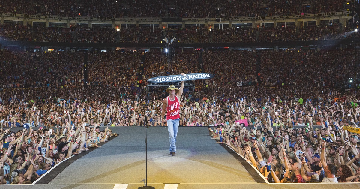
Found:
<svg viewBox="0 0 360 189"><path fill-rule="evenodd" d="M136 87L141 55L89 53L90 86L84 87L82 52L0 51L0 123L10 126L0 131L0 183L32 183L65 158L116 136L112 127L166 126L160 116L165 91ZM360 124L359 96L337 88L356 58L355 50L214 50L176 53L170 67L164 54L152 52L142 78L146 85L160 75L214 73L182 96L180 125L209 126L213 139L222 138L270 182L358 182L359 136L344 126ZM254 85L237 87L237 81Z"/></svg>

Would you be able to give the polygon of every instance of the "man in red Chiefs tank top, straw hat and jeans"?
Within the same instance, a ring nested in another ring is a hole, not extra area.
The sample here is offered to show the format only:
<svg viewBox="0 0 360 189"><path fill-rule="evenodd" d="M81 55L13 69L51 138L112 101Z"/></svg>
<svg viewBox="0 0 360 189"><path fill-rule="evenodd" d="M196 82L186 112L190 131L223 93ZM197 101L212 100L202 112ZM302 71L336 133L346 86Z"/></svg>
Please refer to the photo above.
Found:
<svg viewBox="0 0 360 189"><path fill-rule="evenodd" d="M182 73L181 75L184 75ZM177 89L174 85L170 85L166 89L166 93L169 93L169 96L164 98L162 101L162 110L161 110L161 119L165 124L167 122L167 129L169 131L170 138L170 155L175 156L176 154L176 135L177 130L179 129L179 108L180 108L180 97L183 95L184 90L184 81L181 81L180 89ZM164 118L166 108L166 120Z"/></svg>

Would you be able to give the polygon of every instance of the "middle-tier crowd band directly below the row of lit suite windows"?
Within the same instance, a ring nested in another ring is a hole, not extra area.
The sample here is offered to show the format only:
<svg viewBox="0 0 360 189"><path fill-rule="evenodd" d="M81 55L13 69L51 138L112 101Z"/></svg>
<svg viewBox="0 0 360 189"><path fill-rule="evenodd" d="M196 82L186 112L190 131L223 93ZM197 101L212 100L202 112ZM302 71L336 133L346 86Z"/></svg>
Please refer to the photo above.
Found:
<svg viewBox="0 0 360 189"><path fill-rule="evenodd" d="M88 27L30 27L21 24L4 24L0 26L1 40L42 41L42 42L118 42L118 43L159 43L164 39L161 29L123 28L116 31L113 28ZM256 34L258 32L258 36ZM350 32L350 29L327 27L274 27L257 30L256 28L213 28L207 27L184 28L167 30L166 36L176 36L181 43L207 42L273 42L273 41L307 41L329 40L359 37L359 32ZM171 37L172 38L172 37Z"/></svg>

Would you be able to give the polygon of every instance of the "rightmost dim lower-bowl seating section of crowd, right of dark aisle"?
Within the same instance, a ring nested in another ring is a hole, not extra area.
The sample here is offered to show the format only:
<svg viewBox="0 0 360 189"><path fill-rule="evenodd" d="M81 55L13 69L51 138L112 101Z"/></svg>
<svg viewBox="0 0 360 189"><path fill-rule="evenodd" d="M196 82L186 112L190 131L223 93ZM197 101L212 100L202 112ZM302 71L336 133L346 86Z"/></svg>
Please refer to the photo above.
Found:
<svg viewBox="0 0 360 189"><path fill-rule="evenodd" d="M261 53L261 81L266 86L351 87L357 56L353 50L264 51Z"/></svg>

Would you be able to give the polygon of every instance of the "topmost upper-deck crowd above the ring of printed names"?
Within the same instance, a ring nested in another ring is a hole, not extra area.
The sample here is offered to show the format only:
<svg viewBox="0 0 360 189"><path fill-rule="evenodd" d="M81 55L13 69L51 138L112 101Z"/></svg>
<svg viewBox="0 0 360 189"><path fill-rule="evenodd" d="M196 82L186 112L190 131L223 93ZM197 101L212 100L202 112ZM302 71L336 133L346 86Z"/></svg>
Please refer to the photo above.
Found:
<svg viewBox="0 0 360 189"><path fill-rule="evenodd" d="M342 11L345 0L320 0L305 3L293 0L251 1L2 1L0 11L17 14L78 17L259 17Z"/></svg>

